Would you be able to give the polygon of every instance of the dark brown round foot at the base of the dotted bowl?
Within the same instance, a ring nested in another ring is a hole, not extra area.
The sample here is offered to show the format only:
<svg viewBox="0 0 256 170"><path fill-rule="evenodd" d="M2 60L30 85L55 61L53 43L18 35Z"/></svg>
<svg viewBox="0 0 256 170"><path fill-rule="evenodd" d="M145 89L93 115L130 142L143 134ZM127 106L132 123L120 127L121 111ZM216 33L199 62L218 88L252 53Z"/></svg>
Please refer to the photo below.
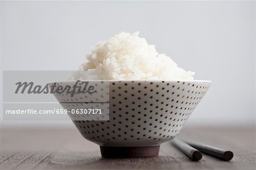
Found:
<svg viewBox="0 0 256 170"><path fill-rule="evenodd" d="M106 158L152 157L158 156L160 146L109 147L101 146L101 155Z"/></svg>

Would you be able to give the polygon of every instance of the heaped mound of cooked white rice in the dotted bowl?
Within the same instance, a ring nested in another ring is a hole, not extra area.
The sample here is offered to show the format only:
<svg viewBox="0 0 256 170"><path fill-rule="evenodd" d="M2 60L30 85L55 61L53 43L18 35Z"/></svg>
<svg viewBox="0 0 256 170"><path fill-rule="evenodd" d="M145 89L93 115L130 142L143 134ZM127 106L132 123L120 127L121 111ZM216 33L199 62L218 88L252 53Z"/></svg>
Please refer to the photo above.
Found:
<svg viewBox="0 0 256 170"><path fill-rule="evenodd" d="M139 32L120 32L99 42L72 80L193 80L194 72L185 71L165 54L159 54Z"/></svg>

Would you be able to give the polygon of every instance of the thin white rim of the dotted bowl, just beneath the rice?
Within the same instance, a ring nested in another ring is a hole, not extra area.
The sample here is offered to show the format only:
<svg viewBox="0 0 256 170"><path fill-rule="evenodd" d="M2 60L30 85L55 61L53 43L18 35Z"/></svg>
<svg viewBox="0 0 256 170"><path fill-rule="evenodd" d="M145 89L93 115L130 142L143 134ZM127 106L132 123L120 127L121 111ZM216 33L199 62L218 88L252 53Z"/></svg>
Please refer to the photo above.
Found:
<svg viewBox="0 0 256 170"><path fill-rule="evenodd" d="M69 81L51 81L48 84L52 83L72 83L76 82L77 80L69 80ZM206 82L211 84L212 81L210 80L80 80L80 81L89 81L89 82Z"/></svg>

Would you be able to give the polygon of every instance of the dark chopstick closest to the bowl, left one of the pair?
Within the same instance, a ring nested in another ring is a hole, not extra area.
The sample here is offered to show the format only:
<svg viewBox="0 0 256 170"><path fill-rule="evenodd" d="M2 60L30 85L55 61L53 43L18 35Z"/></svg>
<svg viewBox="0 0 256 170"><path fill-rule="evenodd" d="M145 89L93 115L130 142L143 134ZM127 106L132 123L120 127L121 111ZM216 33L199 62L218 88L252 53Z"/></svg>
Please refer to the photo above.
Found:
<svg viewBox="0 0 256 170"><path fill-rule="evenodd" d="M202 158L201 152L189 146L187 143L183 142L183 140L174 139L172 144L193 161L199 161Z"/></svg>

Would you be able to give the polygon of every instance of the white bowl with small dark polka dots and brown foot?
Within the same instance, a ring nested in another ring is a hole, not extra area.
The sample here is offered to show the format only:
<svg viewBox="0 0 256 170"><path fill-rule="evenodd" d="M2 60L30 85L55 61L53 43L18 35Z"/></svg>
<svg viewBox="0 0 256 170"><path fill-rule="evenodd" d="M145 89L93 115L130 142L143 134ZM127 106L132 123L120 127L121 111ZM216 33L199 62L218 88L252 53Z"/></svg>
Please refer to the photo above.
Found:
<svg viewBox="0 0 256 170"><path fill-rule="evenodd" d="M53 94L69 111L91 107L93 102L107 105L104 118L109 119L104 121L74 119L68 113L81 135L100 145L103 157L157 156L160 144L179 134L210 86L203 80L86 82L102 93ZM53 84L75 86L76 81L49 83Z"/></svg>

